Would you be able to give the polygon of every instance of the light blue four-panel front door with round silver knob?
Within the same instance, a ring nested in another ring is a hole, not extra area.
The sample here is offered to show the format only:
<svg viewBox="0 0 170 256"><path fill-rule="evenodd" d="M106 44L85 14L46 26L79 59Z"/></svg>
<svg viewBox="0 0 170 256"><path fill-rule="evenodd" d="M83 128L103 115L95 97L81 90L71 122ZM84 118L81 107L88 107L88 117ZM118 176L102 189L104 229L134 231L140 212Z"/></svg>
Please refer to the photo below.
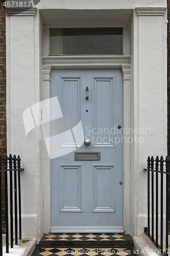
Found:
<svg viewBox="0 0 170 256"><path fill-rule="evenodd" d="M117 129L123 127L122 71L52 70L51 98L56 96L64 130L62 154L51 159L51 232L124 232L123 135ZM81 121L83 131L76 123L68 127L69 118ZM82 132L90 145L80 140Z"/></svg>

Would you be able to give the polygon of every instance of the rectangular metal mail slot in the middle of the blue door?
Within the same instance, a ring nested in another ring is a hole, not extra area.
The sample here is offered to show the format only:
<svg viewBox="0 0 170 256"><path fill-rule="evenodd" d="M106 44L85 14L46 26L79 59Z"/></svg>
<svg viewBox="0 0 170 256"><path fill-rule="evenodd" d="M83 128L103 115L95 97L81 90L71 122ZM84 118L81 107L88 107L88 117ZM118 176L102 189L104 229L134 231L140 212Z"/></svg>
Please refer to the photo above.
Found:
<svg viewBox="0 0 170 256"><path fill-rule="evenodd" d="M100 152L75 152L75 161L100 161Z"/></svg>

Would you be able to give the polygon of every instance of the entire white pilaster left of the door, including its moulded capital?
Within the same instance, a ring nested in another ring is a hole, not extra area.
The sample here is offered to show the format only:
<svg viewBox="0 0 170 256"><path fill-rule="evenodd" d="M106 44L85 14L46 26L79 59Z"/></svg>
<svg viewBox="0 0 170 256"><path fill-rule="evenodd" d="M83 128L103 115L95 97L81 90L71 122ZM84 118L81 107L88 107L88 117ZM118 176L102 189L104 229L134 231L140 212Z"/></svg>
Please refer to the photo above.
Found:
<svg viewBox="0 0 170 256"><path fill-rule="evenodd" d="M7 136L8 154L20 155L25 170L21 173L22 237L37 237L38 154L37 132L34 139L27 138L23 112L35 103L35 13L36 8L16 13L8 10L7 24ZM39 197L39 196L38 196Z"/></svg>

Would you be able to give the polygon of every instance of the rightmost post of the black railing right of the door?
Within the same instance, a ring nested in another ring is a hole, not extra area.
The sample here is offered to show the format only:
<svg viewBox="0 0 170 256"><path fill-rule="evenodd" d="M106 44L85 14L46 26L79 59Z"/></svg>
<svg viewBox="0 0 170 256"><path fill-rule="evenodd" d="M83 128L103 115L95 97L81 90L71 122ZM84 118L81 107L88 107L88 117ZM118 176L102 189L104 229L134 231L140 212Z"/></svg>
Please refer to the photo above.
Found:
<svg viewBox="0 0 170 256"><path fill-rule="evenodd" d="M169 157L166 157L166 173L169 173ZM166 175L166 254L168 255L168 234L169 234L169 175Z"/></svg>

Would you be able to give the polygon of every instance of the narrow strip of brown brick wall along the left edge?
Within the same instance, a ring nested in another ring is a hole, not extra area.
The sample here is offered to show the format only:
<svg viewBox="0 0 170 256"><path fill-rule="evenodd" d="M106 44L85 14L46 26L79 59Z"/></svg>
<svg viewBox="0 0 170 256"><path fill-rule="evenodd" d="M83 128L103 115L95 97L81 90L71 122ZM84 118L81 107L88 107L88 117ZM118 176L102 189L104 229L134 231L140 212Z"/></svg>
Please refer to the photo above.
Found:
<svg viewBox="0 0 170 256"><path fill-rule="evenodd" d="M0 152L7 153L7 125L6 125L6 14L3 2L0 0ZM5 233L5 187L3 187L3 233Z"/></svg>

